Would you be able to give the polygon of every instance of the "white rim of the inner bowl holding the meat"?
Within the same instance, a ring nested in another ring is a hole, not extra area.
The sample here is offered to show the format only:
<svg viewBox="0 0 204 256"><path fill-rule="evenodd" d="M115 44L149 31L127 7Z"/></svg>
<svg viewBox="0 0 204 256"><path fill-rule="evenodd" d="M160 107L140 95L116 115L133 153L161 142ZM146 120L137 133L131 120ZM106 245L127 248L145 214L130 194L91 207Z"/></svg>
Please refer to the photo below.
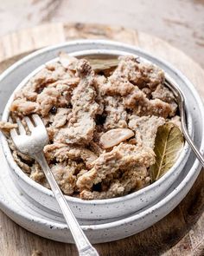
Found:
<svg viewBox="0 0 204 256"><path fill-rule="evenodd" d="M67 44L67 45L69 45L69 44ZM48 47L47 49L50 49L50 48ZM90 51L90 50L81 50L81 51L76 50L76 51L73 52L72 56L75 56L75 55L80 56L81 53L86 53L86 51ZM119 54L119 53L124 53L124 54L126 53L126 52L118 50L118 49L115 50L115 51L112 50L112 49L97 49L97 50L92 49L91 51L98 51L99 54L101 54L104 51L105 51L105 53L108 53L108 54L109 53L111 54L111 52L112 52L112 55L114 55L114 54L116 55L116 54ZM36 53L35 56L38 56L38 54ZM141 58L143 59L143 57L141 57ZM7 115L8 115L8 112L9 112L10 103L13 101L13 98L14 98L14 95L15 95L16 91L21 89L29 81L29 79L31 77L33 77L36 73L38 73L41 69L43 69L43 67L45 67L45 65L47 63L55 62L57 59L58 59L58 57L56 57L56 58L54 58L54 59L52 59L48 62L45 62L44 64L41 64L36 69L34 69L32 72L30 72L29 75L27 75L26 77L24 77L22 79L22 82L20 82L16 86L16 89L12 92L8 102L6 103L6 106L4 107L3 117L2 117L3 121L7 121ZM18 64L17 66L20 66L20 65L22 65L22 63ZM15 69L15 67L14 67L14 69ZM0 82L1 82L1 76L0 76ZM191 115L189 113L188 113L188 124L189 124L189 132L193 133L192 118L191 118ZM3 153L6 156L6 159L9 163L10 167L14 169L14 172L16 172L16 174L19 175L19 177L21 177L21 179L23 181L29 183L29 186L35 187L36 189L40 190L41 193L47 194L48 196L52 196L54 198L54 194L52 193L51 190L49 190L46 187L41 186L41 184L38 184L37 182L35 182L33 180L31 180L28 177L28 175L24 174L22 172L22 169L20 167L18 167L18 165L16 164L16 162L14 161L14 159L12 157L12 154L10 152L10 147L8 145L8 141L6 140L5 136L1 137L1 141L2 141L2 144L3 144ZM174 166L169 169L169 172L164 174L163 177L161 177L158 181L154 182L153 184L150 184L150 186L143 187L142 189L140 189L136 192L133 192L131 194L124 195L123 197L104 199L104 200L80 200L78 198L74 198L72 196L67 196L66 195L66 199L70 202L77 203L77 204L82 205L82 206L89 206L89 205L94 206L94 205L115 204L115 203L118 203L118 202L121 202L121 201L132 200L132 199L134 199L135 196L137 196L137 197L143 196L144 194L149 193L150 190L156 189L156 187L160 187L161 184L163 183L163 181L165 181L166 179L169 178L169 176L171 176L172 174L175 173L176 168L178 168L182 164L182 161L185 161L185 162L188 161L189 153L190 153L190 147L189 147L187 141L185 141L184 147L182 148L182 154L180 154L180 156L176 160Z"/></svg>

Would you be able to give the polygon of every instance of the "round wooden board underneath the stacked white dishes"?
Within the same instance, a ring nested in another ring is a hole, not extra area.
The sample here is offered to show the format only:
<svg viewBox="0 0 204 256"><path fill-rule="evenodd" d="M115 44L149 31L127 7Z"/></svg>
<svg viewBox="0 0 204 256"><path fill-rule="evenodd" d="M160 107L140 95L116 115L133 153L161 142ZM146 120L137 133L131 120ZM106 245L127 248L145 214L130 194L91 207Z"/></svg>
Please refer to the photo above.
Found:
<svg viewBox="0 0 204 256"><path fill-rule="evenodd" d="M108 38L130 43L175 65L204 97L204 71L169 43L136 30L84 23L49 23L0 38L0 72L35 49L78 38ZM97 245L100 255L204 255L204 172L174 211L142 233ZM35 254L38 250L41 254ZM75 246L41 238L0 211L1 256L74 256Z"/></svg>

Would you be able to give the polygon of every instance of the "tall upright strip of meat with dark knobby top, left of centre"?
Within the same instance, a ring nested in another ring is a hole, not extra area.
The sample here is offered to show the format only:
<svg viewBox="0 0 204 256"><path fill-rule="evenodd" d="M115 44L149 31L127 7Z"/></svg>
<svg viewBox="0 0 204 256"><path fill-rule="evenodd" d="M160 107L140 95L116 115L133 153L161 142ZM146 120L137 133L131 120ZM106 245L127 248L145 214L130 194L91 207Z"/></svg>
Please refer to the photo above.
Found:
<svg viewBox="0 0 204 256"><path fill-rule="evenodd" d="M85 60L80 60L77 65L77 73L81 80L73 90L73 120L69 121L69 127L59 132L56 140L67 143L85 144L92 141L95 128L94 116L99 105L95 102L95 89L92 86L93 71Z"/></svg>

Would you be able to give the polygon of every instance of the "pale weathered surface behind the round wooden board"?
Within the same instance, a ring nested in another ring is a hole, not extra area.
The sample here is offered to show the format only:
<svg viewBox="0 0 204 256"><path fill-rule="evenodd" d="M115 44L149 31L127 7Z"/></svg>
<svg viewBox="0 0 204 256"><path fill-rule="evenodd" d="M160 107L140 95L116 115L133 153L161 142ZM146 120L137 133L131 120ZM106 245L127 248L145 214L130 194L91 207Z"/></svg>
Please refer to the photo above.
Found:
<svg viewBox="0 0 204 256"><path fill-rule="evenodd" d="M203 16L204 0L0 0L0 36L50 22L121 25L165 39L204 67Z"/></svg>

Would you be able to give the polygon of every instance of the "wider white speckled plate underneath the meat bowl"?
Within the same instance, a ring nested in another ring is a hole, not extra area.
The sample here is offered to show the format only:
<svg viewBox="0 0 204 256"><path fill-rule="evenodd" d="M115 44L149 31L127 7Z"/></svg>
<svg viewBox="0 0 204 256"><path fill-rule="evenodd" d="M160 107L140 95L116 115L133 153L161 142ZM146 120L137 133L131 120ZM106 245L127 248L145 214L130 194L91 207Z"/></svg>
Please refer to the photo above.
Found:
<svg viewBox="0 0 204 256"><path fill-rule="evenodd" d="M103 43L100 41L100 43L105 44L107 42ZM113 43L113 45L118 45L120 48L128 47L132 52L136 50L135 48L131 48L121 43ZM107 45L105 45L105 47L107 47ZM110 45L108 47L111 48ZM66 46L61 46L61 49L66 50ZM58 49L53 48L52 54L47 52L45 56L41 56L41 63L48 61L48 59L52 58L52 55L55 55L57 51L59 51L59 47ZM137 51L139 50L137 49ZM146 55L143 52L141 54L144 56ZM150 61L154 60L152 56L149 56L149 58ZM26 60L24 61L28 68L29 62ZM160 66L161 62L158 60L156 61L156 64ZM36 66L38 66L38 64L39 63L36 63ZM168 71L169 75L173 76L176 82L179 82L180 86L186 90L188 101L191 104L191 108L189 110L194 123L194 142L198 148L201 148L201 152L203 152L204 111L201 99L192 84L188 82L188 80L178 70L173 69L164 62L163 65L165 66L163 69ZM19 77L17 77L17 80L19 79L19 81L14 82L13 75L16 76L16 74L19 75ZM1 102L4 101L5 103L8 100L16 83L21 82L22 78L26 75L28 74L25 70L25 65L18 67L16 70L8 69L6 71L3 77L4 84L1 83L0 85L0 89L2 90L0 95ZM2 87L2 85L9 83L10 87ZM0 108L2 111L3 105L1 105ZM0 155L0 157L3 159L2 155ZM187 164L183 168L182 174L174 185L170 187L167 194L163 194L159 201L154 205L144 209L140 213L134 213L121 220L113 220L109 223L98 225L94 225L93 223L93 225L82 226L82 228L85 230L92 243L118 240L133 233L138 233L148 226L156 223L156 221L161 220L183 199L189 189L193 186L200 170L201 165L199 164L199 161L195 160L194 154L191 153ZM37 206L36 203L34 204L28 196L20 194L19 189L15 187L10 178L9 168L5 161L1 165L0 172L0 207L12 220L15 220L19 225L33 233L37 233L53 240L73 242L71 234L63 222L63 219L61 219L61 216L50 211L48 212L48 209L40 207L40 205Z"/></svg>

